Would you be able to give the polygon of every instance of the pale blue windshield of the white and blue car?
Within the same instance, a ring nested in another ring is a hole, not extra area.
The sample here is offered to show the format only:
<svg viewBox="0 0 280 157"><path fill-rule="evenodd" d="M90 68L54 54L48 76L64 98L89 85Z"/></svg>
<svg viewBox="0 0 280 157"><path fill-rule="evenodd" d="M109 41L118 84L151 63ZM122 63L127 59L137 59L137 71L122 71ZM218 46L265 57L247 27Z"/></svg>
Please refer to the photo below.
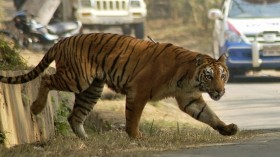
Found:
<svg viewBox="0 0 280 157"><path fill-rule="evenodd" d="M280 0L232 0L231 18L280 17Z"/></svg>

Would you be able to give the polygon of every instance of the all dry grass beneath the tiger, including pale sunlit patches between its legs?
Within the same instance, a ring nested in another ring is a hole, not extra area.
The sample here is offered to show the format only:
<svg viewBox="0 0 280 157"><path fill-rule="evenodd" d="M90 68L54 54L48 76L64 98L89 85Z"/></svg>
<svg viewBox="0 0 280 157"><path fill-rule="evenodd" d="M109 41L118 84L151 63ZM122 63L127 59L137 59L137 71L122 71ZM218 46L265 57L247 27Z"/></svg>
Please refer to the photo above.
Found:
<svg viewBox="0 0 280 157"><path fill-rule="evenodd" d="M261 133L240 131L235 136L221 136L181 112L172 100L167 99L147 104L140 124L144 136L134 140L130 139L124 131L124 98L100 100L94 110L95 113L101 114L99 118L102 118L102 113L104 114L104 124L113 126L122 123L122 125L109 127L107 131L100 131L93 128L93 125L86 125L90 137L88 140L77 138L68 126L46 141L23 144L10 149L0 146L0 156L152 156L156 152L166 150L238 142ZM68 129L66 134L65 129Z"/></svg>

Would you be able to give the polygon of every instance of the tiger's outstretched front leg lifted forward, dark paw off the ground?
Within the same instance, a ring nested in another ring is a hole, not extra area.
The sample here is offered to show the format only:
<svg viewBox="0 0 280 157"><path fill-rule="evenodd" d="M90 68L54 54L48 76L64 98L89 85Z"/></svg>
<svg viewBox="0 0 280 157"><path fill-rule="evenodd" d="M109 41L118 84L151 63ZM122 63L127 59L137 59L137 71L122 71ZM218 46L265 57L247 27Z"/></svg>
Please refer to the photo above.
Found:
<svg viewBox="0 0 280 157"><path fill-rule="evenodd" d="M238 131L235 124L226 125L219 117L210 109L205 103L202 95L192 98L176 97L179 108L193 118L210 125L213 129L217 130L220 134L225 136L234 135Z"/></svg>

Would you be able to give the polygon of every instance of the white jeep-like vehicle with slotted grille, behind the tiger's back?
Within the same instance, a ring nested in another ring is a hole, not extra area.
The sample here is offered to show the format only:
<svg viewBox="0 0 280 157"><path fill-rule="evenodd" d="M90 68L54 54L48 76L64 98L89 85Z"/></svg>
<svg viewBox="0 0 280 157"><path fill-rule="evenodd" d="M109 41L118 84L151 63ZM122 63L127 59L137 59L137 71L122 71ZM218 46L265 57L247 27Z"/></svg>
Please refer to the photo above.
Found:
<svg viewBox="0 0 280 157"><path fill-rule="evenodd" d="M128 35L134 29L137 38L144 38L146 15L144 0L78 0L76 11L84 27L102 30L119 26Z"/></svg>

